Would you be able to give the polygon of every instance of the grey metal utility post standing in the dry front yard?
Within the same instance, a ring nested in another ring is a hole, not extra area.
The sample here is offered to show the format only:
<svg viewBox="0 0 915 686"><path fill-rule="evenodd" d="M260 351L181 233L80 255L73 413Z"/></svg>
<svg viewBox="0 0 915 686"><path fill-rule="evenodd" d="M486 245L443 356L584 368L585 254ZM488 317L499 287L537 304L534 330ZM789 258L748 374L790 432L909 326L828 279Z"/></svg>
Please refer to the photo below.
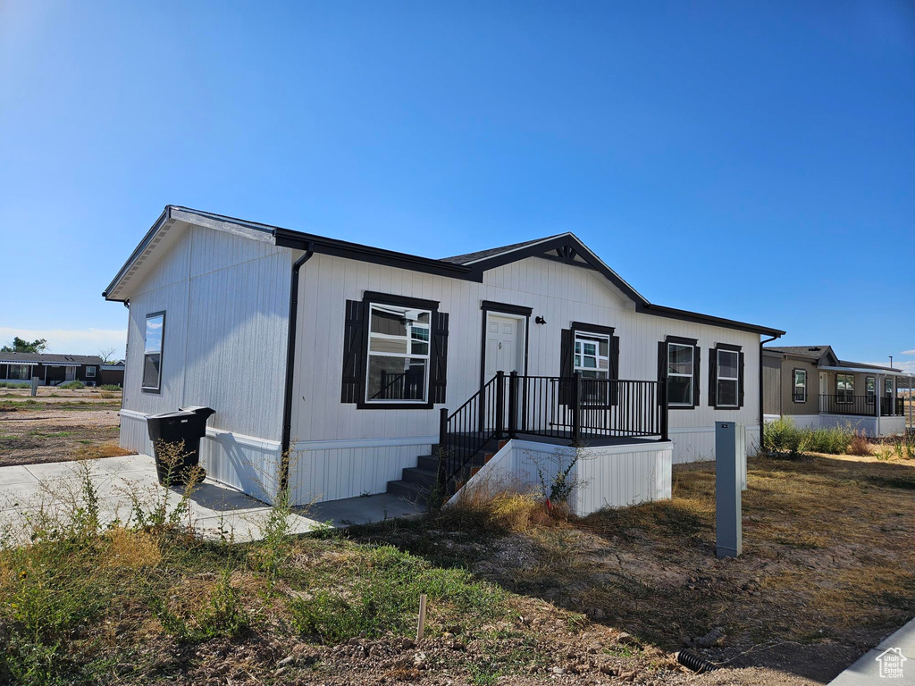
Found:
<svg viewBox="0 0 915 686"><path fill-rule="evenodd" d="M743 424L715 423L715 537L718 557L737 557L743 549L742 466L747 464Z"/></svg>

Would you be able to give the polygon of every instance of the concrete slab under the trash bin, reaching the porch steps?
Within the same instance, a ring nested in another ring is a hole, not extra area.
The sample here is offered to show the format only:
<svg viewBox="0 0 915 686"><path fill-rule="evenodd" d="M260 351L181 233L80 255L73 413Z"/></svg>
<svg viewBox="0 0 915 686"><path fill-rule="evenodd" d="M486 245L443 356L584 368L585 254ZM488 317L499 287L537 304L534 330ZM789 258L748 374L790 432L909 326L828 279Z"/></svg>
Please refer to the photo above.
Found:
<svg viewBox="0 0 915 686"><path fill-rule="evenodd" d="M80 507L84 500L81 466L90 470L103 524L130 520L135 502L148 511L167 497L172 511L180 501L178 488L167 490L159 485L150 456L0 467L0 538L25 541L37 520L62 520ZM381 494L319 503L307 512L294 511L289 523L293 533L305 533L328 525L346 527L420 512L401 498ZM269 514L270 507L260 500L208 479L191 492L182 520L208 538L253 541L261 538Z"/></svg>

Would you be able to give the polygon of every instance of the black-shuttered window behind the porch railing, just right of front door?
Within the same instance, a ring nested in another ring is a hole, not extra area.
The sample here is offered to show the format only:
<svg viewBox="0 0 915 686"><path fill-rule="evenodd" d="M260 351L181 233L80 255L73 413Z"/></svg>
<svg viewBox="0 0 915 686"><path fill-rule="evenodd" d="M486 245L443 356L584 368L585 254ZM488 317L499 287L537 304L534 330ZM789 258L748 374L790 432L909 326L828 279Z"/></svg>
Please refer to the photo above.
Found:
<svg viewBox="0 0 915 686"><path fill-rule="evenodd" d="M559 375L569 379L577 371L582 380L581 402L590 406L615 405L619 381L619 336L612 327L572 322L560 338ZM560 402L571 402L571 386L563 382Z"/></svg>

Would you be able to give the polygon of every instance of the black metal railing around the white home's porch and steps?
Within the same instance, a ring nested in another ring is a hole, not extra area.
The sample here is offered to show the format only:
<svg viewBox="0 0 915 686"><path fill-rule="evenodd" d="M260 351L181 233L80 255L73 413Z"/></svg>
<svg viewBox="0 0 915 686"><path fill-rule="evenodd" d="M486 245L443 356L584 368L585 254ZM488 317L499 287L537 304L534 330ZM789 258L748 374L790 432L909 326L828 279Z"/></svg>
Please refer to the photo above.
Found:
<svg viewBox="0 0 915 686"><path fill-rule="evenodd" d="M666 385L572 377L496 375L455 413L439 419L439 484L456 488L493 440L518 435L565 439L659 437L666 441Z"/></svg>

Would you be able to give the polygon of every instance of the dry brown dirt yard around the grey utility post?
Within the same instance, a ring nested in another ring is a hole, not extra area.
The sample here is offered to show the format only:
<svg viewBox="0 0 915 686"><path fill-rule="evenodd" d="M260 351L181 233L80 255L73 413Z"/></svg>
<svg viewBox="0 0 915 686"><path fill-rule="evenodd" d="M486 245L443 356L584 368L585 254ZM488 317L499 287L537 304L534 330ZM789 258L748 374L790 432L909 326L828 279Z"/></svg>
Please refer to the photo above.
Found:
<svg viewBox="0 0 915 686"><path fill-rule="evenodd" d="M673 477L671 501L559 526L512 515L484 536L447 519L354 533L470 560L512 592L630 634L634 652L689 648L727 668L703 683L825 683L915 616L915 462L751 460L737 560L715 556L714 466Z"/></svg>

